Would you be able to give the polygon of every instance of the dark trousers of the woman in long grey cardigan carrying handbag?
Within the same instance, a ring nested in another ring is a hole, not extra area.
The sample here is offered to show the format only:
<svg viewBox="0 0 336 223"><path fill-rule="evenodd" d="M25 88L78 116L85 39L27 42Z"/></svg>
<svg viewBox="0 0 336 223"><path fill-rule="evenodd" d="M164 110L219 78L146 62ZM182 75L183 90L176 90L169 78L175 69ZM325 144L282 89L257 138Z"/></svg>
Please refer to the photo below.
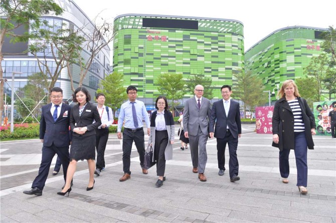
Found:
<svg viewBox="0 0 336 223"><path fill-rule="evenodd" d="M157 131L155 130L155 147L154 157L156 161L156 175L164 176L165 170L165 157L164 151L168 144L168 132L167 130Z"/></svg>

